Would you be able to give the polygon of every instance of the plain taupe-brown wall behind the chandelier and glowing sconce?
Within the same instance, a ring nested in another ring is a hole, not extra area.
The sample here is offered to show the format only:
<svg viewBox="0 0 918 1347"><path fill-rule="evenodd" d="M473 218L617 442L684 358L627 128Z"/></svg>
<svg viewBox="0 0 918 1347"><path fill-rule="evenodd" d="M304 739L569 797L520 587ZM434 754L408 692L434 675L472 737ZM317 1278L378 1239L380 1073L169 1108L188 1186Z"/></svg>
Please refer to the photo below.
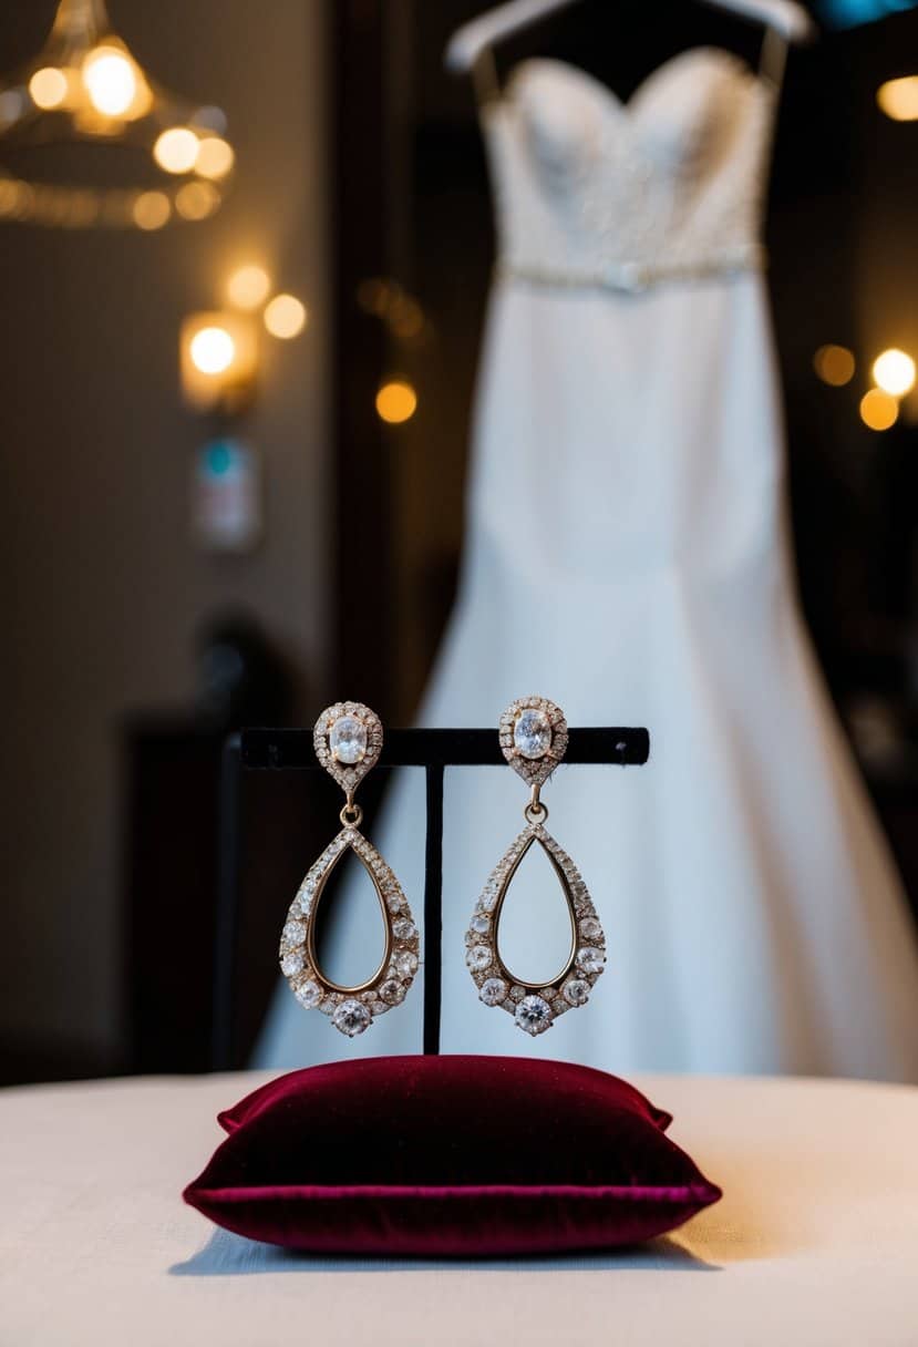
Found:
<svg viewBox="0 0 918 1347"><path fill-rule="evenodd" d="M0 1039L114 1055L120 718L188 700L192 633L230 603L260 616L300 679L323 678L328 314L322 0L109 9L159 81L225 108L238 155L233 197L203 224L0 226ZM34 54L52 12L4 5L0 69ZM311 318L300 339L265 341L245 426L265 463L264 544L215 558L188 529L203 427L179 399L178 330L252 259Z"/></svg>

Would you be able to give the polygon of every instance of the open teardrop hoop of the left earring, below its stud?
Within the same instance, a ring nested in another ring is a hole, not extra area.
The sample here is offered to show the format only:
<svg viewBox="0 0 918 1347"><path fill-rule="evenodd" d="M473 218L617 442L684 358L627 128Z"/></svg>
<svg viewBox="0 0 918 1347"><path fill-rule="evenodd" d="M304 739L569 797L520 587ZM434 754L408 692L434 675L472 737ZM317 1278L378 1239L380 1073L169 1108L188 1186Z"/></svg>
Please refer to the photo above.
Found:
<svg viewBox="0 0 918 1347"><path fill-rule="evenodd" d="M339 987L331 982L319 967L315 951L318 907L331 872L347 850L354 851L373 881L386 931L382 962L359 987ZM300 1005L322 1010L349 1039L363 1033L376 1016L405 999L420 967L417 927L398 880L357 828L342 828L308 870L287 913L279 958L280 971Z"/></svg>

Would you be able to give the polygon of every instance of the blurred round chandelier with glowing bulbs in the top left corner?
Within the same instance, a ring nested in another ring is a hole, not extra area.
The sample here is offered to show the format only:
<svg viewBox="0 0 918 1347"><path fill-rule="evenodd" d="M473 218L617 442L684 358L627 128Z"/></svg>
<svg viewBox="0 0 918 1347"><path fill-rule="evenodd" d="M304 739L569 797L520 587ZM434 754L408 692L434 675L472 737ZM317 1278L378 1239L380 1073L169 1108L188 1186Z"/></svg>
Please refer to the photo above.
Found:
<svg viewBox="0 0 918 1347"><path fill-rule="evenodd" d="M219 108L151 79L105 0L61 0L42 51L0 79L0 220L70 229L206 220L233 170L225 127Z"/></svg>

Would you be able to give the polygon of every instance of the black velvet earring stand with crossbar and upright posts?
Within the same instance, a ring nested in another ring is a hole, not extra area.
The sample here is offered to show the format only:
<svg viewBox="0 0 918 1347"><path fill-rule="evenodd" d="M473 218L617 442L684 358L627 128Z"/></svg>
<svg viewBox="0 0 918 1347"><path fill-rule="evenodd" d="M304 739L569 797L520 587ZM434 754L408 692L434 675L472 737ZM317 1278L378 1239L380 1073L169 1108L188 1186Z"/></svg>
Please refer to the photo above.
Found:
<svg viewBox="0 0 918 1347"><path fill-rule="evenodd" d="M647 761L649 753L647 730L579 729L569 731L564 762L575 766L641 766ZM424 1053L437 1055L443 932L443 777L448 766L503 766L503 756L494 730L389 730L378 765L420 766L427 777ZM311 730L242 730L226 742L221 781L221 865L214 951L214 1071L226 1071L233 1065L241 775L306 770L324 770L315 758Z"/></svg>

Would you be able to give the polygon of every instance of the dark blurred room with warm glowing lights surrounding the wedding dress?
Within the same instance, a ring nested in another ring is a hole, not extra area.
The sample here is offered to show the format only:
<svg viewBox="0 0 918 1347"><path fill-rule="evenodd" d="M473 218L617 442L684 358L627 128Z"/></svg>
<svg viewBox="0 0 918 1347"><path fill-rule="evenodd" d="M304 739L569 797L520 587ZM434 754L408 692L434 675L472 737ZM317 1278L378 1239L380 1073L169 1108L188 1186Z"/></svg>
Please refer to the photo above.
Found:
<svg viewBox="0 0 918 1347"><path fill-rule="evenodd" d="M794 535L914 905L918 12L810 8L767 214ZM4 5L3 1083L206 1070L226 734L341 695L411 721L494 255L472 90L443 67L481 9L109 0L121 47L89 0ZM583 0L499 59L627 96L685 47L755 63L759 40L688 0ZM55 62L79 42L75 90ZM311 789L245 785L240 1060L324 841Z"/></svg>

